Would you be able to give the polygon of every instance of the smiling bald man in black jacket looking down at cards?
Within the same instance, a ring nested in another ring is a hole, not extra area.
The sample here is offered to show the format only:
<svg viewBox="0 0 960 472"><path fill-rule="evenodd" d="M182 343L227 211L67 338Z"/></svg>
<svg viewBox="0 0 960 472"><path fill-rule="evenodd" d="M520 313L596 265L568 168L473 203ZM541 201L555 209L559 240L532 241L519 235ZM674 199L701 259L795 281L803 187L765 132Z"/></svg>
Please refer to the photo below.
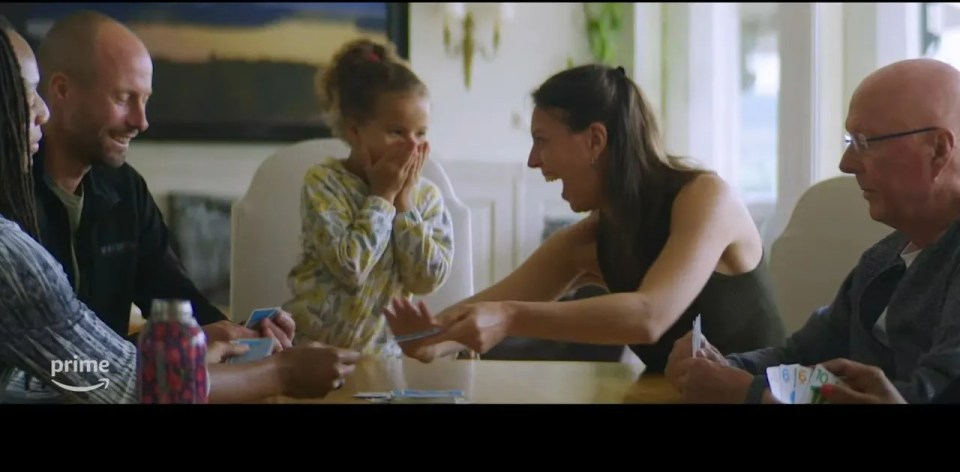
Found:
<svg viewBox="0 0 960 472"><path fill-rule="evenodd" d="M44 247L63 265L78 298L126 336L131 304L190 300L211 340L266 336L291 345L282 313L259 333L229 321L187 277L143 177L125 162L149 126L153 63L122 24L95 12L58 21L39 50L40 93L50 107L34 178ZM279 303L279 301L278 301Z"/></svg>

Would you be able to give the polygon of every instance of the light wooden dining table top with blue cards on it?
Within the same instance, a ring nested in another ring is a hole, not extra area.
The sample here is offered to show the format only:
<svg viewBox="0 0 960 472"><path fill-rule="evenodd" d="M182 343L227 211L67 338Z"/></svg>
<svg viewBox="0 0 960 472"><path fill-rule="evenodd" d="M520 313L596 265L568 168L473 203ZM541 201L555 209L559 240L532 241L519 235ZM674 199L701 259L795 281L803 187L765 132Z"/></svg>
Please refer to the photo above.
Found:
<svg viewBox="0 0 960 472"><path fill-rule="evenodd" d="M679 393L660 374L620 362L362 359L343 387L325 398L274 397L268 403L362 404L360 392L460 390L466 403L676 403Z"/></svg>

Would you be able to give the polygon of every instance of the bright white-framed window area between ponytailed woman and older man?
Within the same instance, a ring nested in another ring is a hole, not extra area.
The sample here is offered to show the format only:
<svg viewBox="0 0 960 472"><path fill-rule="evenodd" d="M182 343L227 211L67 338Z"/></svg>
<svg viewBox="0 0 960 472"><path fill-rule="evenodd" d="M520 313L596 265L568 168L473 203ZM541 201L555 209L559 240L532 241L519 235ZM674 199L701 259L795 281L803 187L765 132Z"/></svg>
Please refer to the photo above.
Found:
<svg viewBox="0 0 960 472"><path fill-rule="evenodd" d="M769 244L816 181L820 128L840 127L819 116L824 102L840 109L842 83L822 80L819 67L821 48L843 43L837 23L823 21L832 7L663 5L667 145L731 182Z"/></svg>

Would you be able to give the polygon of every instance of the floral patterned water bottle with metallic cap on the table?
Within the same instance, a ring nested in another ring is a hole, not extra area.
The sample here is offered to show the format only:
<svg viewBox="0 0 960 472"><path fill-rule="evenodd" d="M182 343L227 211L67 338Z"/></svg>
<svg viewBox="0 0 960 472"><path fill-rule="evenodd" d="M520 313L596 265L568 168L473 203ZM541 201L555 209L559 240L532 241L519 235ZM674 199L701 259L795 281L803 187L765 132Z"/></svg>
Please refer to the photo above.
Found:
<svg viewBox="0 0 960 472"><path fill-rule="evenodd" d="M154 300L140 333L140 403L207 403L207 338L186 300Z"/></svg>

